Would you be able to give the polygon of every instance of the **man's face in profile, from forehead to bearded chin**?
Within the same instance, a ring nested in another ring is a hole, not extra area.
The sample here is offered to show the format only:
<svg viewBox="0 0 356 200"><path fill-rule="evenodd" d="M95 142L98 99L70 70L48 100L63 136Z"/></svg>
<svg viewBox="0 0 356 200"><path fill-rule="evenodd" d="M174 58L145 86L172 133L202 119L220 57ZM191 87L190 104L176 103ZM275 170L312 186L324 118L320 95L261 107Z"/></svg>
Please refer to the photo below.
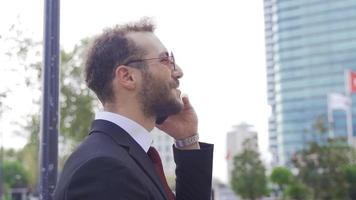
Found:
<svg viewBox="0 0 356 200"><path fill-rule="evenodd" d="M142 70L142 82L138 93L143 112L147 116L163 117L178 113L183 108L178 89L178 79L183 76L179 67L173 71L172 64L165 59L168 52L159 39L152 33L131 35L137 45L146 50L143 59L147 69Z"/></svg>

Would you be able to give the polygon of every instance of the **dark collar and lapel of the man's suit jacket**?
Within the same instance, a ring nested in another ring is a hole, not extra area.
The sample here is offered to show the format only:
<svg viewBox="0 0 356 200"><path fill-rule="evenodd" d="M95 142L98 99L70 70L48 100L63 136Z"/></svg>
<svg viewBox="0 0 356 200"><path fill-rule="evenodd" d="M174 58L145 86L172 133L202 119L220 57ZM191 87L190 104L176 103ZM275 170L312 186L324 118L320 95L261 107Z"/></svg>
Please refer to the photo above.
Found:
<svg viewBox="0 0 356 200"><path fill-rule="evenodd" d="M118 145L128 147L129 155L135 160L140 168L150 177L152 182L159 189L165 199L167 199L163 185L156 173L156 170L140 145L121 127L106 120L95 120L92 123L92 132L102 132L110 136Z"/></svg>

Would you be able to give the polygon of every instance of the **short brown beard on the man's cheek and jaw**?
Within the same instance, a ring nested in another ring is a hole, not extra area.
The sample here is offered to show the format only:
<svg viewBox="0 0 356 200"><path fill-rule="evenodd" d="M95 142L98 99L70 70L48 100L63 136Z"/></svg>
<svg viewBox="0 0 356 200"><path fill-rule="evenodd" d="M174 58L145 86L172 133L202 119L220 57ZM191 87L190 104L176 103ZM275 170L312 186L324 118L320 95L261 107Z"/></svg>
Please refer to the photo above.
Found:
<svg viewBox="0 0 356 200"><path fill-rule="evenodd" d="M179 83L168 83L154 78L148 71L142 74L143 82L139 92L139 101L145 116L166 117L177 114L183 109L183 104L172 92Z"/></svg>

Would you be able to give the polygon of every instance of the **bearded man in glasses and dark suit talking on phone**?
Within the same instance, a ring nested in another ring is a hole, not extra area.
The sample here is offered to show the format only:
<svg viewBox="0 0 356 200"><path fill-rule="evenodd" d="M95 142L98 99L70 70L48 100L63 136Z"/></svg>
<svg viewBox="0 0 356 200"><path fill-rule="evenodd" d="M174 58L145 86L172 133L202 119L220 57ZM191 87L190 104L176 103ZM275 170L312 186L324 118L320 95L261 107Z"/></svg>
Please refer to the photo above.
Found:
<svg viewBox="0 0 356 200"><path fill-rule="evenodd" d="M178 89L183 72L153 31L141 20L95 39L86 82L104 111L68 158L55 200L210 199L213 146L198 142L197 116ZM175 195L150 147L155 126L176 140Z"/></svg>

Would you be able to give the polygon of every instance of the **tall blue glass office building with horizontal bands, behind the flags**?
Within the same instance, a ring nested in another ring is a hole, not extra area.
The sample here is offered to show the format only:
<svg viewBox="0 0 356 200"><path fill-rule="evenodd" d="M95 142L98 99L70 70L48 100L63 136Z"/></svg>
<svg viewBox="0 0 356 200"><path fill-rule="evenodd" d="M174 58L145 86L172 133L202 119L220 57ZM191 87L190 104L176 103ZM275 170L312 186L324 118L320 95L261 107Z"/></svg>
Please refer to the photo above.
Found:
<svg viewBox="0 0 356 200"><path fill-rule="evenodd" d="M288 165L320 140L314 124L328 126L327 95L345 94L344 71L356 70L356 1L264 0L264 11L270 150ZM335 135L346 135L345 112L333 118Z"/></svg>

